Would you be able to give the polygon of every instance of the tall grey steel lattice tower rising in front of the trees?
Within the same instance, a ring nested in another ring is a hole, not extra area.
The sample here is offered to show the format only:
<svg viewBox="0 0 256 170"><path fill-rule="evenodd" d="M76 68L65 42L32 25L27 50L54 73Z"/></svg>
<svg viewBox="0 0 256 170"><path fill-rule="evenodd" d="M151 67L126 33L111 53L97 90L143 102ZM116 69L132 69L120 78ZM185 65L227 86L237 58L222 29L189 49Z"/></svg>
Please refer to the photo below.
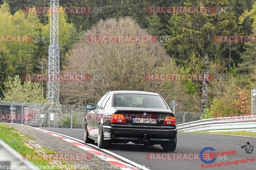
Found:
<svg viewBox="0 0 256 170"><path fill-rule="evenodd" d="M50 46L48 52L48 102L60 102L60 83L53 80L53 75L60 74L59 46L59 0L50 0Z"/></svg>

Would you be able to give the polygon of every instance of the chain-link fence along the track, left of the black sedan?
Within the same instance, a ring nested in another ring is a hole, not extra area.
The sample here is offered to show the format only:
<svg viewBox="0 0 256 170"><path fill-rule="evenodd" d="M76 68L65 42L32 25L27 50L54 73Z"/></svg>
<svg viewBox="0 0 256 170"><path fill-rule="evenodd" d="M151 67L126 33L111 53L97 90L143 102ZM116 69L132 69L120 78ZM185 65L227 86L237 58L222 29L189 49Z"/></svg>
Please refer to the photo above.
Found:
<svg viewBox="0 0 256 170"><path fill-rule="evenodd" d="M34 127L83 128L87 114L85 106L0 100L0 122Z"/></svg>

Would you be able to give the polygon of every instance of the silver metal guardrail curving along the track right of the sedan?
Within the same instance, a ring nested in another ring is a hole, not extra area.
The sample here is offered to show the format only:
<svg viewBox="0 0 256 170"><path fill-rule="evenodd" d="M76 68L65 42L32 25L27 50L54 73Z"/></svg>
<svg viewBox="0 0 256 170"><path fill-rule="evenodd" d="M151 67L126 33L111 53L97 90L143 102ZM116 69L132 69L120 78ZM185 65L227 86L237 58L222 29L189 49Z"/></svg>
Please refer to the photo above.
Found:
<svg viewBox="0 0 256 170"><path fill-rule="evenodd" d="M178 131L256 131L256 116L218 117L177 125Z"/></svg>

